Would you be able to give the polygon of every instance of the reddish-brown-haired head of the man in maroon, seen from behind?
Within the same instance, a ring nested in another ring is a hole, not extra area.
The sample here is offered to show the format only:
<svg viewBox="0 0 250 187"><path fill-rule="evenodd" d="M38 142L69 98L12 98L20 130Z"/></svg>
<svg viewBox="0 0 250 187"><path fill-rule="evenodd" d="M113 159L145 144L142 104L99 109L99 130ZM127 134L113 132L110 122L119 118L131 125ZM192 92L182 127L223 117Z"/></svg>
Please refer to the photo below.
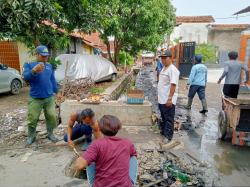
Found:
<svg viewBox="0 0 250 187"><path fill-rule="evenodd" d="M117 117L104 115L99 121L99 127L105 136L115 136L121 129L122 124Z"/></svg>

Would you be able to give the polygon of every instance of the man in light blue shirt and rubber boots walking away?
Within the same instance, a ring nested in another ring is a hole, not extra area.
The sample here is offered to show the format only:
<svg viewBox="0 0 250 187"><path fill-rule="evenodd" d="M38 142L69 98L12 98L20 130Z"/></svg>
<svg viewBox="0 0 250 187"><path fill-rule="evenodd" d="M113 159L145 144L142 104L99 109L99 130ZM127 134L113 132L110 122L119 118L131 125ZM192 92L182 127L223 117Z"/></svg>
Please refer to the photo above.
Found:
<svg viewBox="0 0 250 187"><path fill-rule="evenodd" d="M187 86L189 87L188 92L188 104L186 109L190 110L193 102L193 98L197 93L199 99L202 103L201 114L205 114L208 112L207 110L207 101L205 96L205 88L207 84L207 67L202 62L201 55L195 55L195 65L191 69L191 73L188 79Z"/></svg>

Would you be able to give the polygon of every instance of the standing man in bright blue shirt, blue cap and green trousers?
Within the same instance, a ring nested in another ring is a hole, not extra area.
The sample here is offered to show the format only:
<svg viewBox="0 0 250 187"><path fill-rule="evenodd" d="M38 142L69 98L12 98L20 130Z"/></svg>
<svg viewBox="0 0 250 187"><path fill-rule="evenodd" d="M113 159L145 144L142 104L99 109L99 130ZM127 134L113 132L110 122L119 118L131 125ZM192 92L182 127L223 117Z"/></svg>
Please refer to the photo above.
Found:
<svg viewBox="0 0 250 187"><path fill-rule="evenodd" d="M24 64L24 79L30 84L30 97L28 100L28 138L27 145L32 144L36 138L36 126L41 111L44 111L48 139L58 141L53 134L56 127L56 111L54 94L58 88L52 65L48 63L49 51L44 45L36 48L37 61Z"/></svg>

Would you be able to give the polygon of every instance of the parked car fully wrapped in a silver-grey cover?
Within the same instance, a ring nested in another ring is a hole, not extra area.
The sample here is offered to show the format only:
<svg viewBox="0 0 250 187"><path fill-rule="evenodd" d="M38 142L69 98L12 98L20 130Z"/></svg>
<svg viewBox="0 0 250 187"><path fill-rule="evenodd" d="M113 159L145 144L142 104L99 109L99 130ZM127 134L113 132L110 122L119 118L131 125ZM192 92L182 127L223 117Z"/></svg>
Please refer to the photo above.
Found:
<svg viewBox="0 0 250 187"><path fill-rule="evenodd" d="M56 57L61 61L57 66L55 77L58 82L64 80L65 73L69 81L89 77L95 82L115 80L117 69L112 62L97 55L62 54ZM68 65L67 65L68 62ZM65 72L67 66L67 72Z"/></svg>

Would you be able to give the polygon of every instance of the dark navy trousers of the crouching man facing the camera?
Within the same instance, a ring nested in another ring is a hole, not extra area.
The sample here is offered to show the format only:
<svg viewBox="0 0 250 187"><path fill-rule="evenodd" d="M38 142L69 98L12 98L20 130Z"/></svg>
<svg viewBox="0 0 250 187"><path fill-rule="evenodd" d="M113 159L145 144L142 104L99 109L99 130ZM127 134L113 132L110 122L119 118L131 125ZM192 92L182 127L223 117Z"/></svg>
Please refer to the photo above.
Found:
<svg viewBox="0 0 250 187"><path fill-rule="evenodd" d="M92 128L89 125L85 125L82 123L77 123L76 125L74 125L72 129L71 140L76 140L84 135L87 137L87 142L91 142ZM68 141L67 133L64 135L64 141Z"/></svg>

